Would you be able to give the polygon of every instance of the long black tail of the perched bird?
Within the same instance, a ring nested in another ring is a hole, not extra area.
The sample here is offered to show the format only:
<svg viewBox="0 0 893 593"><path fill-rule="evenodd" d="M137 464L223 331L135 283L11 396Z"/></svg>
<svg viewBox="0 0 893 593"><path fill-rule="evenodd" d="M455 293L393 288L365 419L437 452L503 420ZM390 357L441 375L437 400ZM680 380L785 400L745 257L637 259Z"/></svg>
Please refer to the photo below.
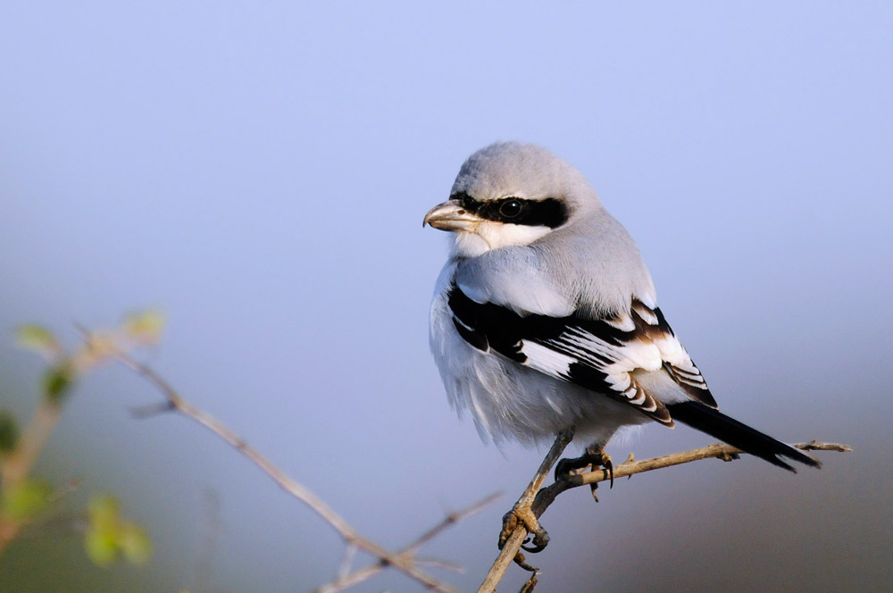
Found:
<svg viewBox="0 0 893 593"><path fill-rule="evenodd" d="M785 445L769 435L752 429L747 424L742 424L734 418L730 418L724 413L700 402L670 404L667 405L667 410L670 411L673 420L688 424L693 429L706 432L711 437L719 438L722 442L728 443L732 447L738 447L745 453L761 457L770 464L778 465L791 472L796 473L797 470L781 461L779 455L798 461L801 464L822 467L822 464L819 464L819 462L799 449Z"/></svg>

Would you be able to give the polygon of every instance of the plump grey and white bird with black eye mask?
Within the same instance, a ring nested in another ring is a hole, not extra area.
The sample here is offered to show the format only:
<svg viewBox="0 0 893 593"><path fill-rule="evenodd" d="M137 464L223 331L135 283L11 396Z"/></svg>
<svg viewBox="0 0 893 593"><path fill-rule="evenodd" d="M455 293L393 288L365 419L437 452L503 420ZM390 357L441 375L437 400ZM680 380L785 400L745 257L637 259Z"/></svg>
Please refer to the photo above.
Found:
<svg viewBox="0 0 893 593"><path fill-rule="evenodd" d="M453 234L430 349L451 404L482 436L536 443L573 430L583 455L559 462L556 479L588 465L613 478L605 446L646 422L682 422L791 472L788 461L820 467L718 410L630 233L546 148L473 153L425 225Z"/></svg>

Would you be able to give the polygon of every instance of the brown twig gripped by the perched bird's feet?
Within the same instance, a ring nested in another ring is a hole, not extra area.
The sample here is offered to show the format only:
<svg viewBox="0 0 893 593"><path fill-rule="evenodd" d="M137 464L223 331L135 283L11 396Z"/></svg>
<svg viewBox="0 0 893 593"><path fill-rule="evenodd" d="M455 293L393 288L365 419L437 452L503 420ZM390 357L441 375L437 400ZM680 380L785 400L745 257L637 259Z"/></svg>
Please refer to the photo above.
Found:
<svg viewBox="0 0 893 593"><path fill-rule="evenodd" d="M840 445L838 443L822 443L817 440L794 445L793 447L797 447L798 449L803 449L805 451L848 452L853 450L848 445ZM707 447L674 453L672 455L663 455L661 457L646 459L644 461L635 461L632 459L632 455L630 455L630 459L628 459L623 464L620 464L613 468L613 477L615 479L622 478L624 476L631 476L635 473L650 472L652 470L663 469L664 467L672 467L673 465L688 464L690 462L698 461L701 459L716 458L722 459L723 461L732 461L734 459L738 459L738 455L741 453L744 453L744 451L741 451L736 447L731 447L730 445L726 445L724 443L715 443L714 445L708 445ZM550 451L549 455L547 455L547 460L549 459L549 456L551 454L552 451ZM544 460L543 464L546 464L547 460ZM555 462L553 461L552 463ZM542 466L540 466L540 472L541 470ZM537 472L537 475L539 475L540 472ZM558 497L558 495L561 494L564 490L579 488L580 486L595 484L597 482L609 479L610 478L607 475L607 472L601 469L594 472L567 476L562 480L556 481L547 488L539 490L536 499L531 505L531 510L533 511L534 515L536 515L537 517L541 517L542 514L546 512L546 509L549 507L549 505L555 502L555 498ZM502 580L506 569L508 568L509 564L511 564L513 557L521 550L521 545L525 537L527 537L527 530L524 527L523 523L519 522L515 526L512 535L505 541L505 546L497 556L497 561L494 562L492 568L490 568L490 572L488 572L487 578L480 585L478 593L492 593L496 590L497 583Z"/></svg>

